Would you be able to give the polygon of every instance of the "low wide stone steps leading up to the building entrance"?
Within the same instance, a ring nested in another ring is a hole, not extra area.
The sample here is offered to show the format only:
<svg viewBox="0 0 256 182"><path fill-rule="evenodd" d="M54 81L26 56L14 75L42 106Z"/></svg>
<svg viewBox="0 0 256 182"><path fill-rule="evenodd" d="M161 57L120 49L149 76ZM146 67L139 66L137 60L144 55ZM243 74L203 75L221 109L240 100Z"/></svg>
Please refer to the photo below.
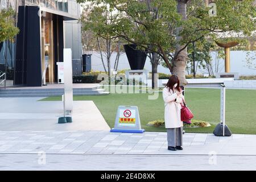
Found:
<svg viewBox="0 0 256 182"><path fill-rule="evenodd" d="M0 97L51 97L61 96L64 94L63 88L40 88L40 89L23 89L23 88L0 88ZM100 86L93 86L90 88L73 88L73 96L94 96L94 95L108 95L105 89Z"/></svg>

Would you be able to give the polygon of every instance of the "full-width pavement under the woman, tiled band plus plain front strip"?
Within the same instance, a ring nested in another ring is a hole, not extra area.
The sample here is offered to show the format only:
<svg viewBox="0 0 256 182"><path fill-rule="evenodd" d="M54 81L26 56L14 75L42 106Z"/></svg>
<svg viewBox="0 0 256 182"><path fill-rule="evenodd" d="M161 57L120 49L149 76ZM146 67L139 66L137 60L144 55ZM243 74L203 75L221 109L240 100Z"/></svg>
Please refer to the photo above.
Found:
<svg viewBox="0 0 256 182"><path fill-rule="evenodd" d="M183 151L167 150L166 133L1 131L0 138L1 170L256 169L255 135L187 133Z"/></svg>

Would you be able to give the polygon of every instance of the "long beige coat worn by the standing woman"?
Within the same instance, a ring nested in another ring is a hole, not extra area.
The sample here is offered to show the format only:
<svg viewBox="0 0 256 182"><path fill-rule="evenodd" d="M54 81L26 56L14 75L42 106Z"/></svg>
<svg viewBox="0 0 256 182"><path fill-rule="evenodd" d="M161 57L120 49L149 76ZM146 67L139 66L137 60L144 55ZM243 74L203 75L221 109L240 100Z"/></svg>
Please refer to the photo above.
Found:
<svg viewBox="0 0 256 182"><path fill-rule="evenodd" d="M182 127L183 122L180 119L180 109L181 105L178 102L175 102L175 98L179 100L178 97L184 98L183 94L177 96L177 90L175 93L172 89L164 88L163 89L163 100L164 100L164 122L166 123L167 129L173 129L177 127Z"/></svg>

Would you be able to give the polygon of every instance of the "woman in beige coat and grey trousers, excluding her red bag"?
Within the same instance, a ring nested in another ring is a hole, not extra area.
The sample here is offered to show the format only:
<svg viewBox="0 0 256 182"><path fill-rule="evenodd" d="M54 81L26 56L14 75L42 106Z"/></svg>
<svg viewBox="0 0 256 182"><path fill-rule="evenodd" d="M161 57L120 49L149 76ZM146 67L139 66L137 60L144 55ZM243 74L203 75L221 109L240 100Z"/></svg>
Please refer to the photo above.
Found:
<svg viewBox="0 0 256 182"><path fill-rule="evenodd" d="M183 122L180 119L181 103L183 103L183 90L176 75L172 75L163 89L164 121L167 129L168 150L183 150L182 134Z"/></svg>

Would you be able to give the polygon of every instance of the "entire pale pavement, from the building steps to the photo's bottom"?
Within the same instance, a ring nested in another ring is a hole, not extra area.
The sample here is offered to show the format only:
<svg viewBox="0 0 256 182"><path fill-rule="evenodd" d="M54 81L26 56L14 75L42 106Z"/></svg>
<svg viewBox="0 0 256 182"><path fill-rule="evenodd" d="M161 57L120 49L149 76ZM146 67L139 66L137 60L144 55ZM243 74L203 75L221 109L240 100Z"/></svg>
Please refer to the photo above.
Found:
<svg viewBox="0 0 256 182"><path fill-rule="evenodd" d="M57 124L60 101L0 98L0 170L256 169L256 135L185 133L183 151L167 134L110 133L92 101L74 101L73 123Z"/></svg>

